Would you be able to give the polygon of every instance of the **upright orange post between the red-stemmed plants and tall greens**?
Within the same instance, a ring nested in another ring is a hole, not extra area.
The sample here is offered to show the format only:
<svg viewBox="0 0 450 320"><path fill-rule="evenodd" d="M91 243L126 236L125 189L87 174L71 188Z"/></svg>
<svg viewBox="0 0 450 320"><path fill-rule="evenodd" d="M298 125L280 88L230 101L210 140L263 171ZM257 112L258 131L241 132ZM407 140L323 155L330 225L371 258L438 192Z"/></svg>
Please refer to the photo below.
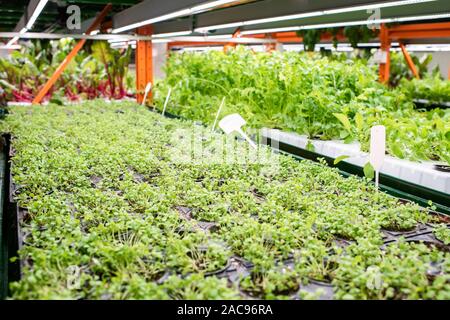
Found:
<svg viewBox="0 0 450 320"><path fill-rule="evenodd" d="M137 30L141 36L151 36L152 26L141 27ZM136 44L136 98L138 103L144 99L145 87L149 82L153 84L153 51L152 42L148 40L138 41ZM152 94L147 99L151 100Z"/></svg>

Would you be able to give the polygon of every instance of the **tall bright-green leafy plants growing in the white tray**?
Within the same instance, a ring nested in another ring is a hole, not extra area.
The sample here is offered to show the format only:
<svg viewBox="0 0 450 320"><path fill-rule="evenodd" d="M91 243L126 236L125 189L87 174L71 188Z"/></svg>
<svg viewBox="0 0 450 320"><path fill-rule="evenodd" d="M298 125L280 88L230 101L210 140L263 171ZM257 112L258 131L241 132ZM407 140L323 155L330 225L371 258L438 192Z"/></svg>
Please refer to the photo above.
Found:
<svg viewBox="0 0 450 320"><path fill-rule="evenodd" d="M415 110L410 94L378 83L376 70L361 60L240 47L174 53L167 78L155 87L158 108L169 87L168 111L205 124L212 125L225 96L221 116L240 113L255 128L358 141L368 151L370 128L384 125L390 155L450 163L450 110Z"/></svg>

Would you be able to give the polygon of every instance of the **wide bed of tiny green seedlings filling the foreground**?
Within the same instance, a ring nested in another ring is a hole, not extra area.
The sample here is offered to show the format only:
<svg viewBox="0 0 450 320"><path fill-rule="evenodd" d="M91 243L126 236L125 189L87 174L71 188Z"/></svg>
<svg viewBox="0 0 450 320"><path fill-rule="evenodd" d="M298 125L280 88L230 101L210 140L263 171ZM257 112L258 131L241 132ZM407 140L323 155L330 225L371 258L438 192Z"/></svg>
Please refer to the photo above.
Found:
<svg viewBox="0 0 450 320"><path fill-rule="evenodd" d="M12 107L0 128L26 212L13 299L287 299L311 279L342 299L449 299L448 252L381 248L382 228L429 223L427 209L323 163L234 139L224 162L224 136L131 102ZM211 273L233 256L249 277Z"/></svg>

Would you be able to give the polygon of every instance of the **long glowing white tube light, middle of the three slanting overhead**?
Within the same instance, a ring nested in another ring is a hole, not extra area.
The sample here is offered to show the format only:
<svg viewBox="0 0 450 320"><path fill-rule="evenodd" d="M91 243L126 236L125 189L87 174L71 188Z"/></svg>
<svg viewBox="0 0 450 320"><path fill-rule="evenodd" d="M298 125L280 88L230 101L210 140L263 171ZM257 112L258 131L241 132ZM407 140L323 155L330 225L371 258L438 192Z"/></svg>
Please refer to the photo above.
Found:
<svg viewBox="0 0 450 320"><path fill-rule="evenodd" d="M353 7L340 8L340 9L313 11L313 12L306 12L306 13L299 13L299 14L291 14L291 15L286 15L286 16L278 16L278 17L273 17L273 18L256 19L256 20L234 22L234 23L214 25L214 26L208 26L208 27L200 27L200 28L195 29L195 32L205 33L210 30L217 30L217 29L249 26L249 25L254 25L254 24L263 24L263 23L294 20L294 19L303 19L303 18L318 17L318 16L324 16L324 15L330 15L330 14L336 14L336 13L371 10L371 9L377 9L377 8L380 9L380 8L387 8L387 7L398 7L398 6L411 5L411 4L423 3L423 2L433 2L433 1L436 1L436 0L403 0L403 1L393 1L393 2L380 3L380 4L372 4L372 5L353 6ZM372 23L374 23L373 20L372 20Z"/></svg>

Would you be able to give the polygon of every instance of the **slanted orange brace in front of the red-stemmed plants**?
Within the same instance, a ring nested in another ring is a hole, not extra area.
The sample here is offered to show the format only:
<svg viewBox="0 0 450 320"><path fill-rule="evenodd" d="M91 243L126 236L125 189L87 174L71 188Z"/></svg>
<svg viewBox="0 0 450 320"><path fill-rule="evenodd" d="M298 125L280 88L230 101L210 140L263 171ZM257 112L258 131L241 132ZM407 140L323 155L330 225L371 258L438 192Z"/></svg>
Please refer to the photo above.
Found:
<svg viewBox="0 0 450 320"><path fill-rule="evenodd" d="M100 12L100 14L95 18L92 25L87 29L86 34L91 34L92 31L96 30L100 24L102 23L103 19L105 19L106 15L109 13L109 11L112 9L111 4L107 4L105 8ZM53 87L53 85L56 83L56 81L59 79L61 74L64 72L68 64L72 61L72 59L78 54L78 52L83 48L84 44L86 43L86 39L80 40L75 47L72 49L72 51L69 53L69 55L64 59L64 61L58 66L58 68L55 70L53 75L48 79L47 83L42 87L42 89L39 91L37 96L33 100L33 104L39 104L42 102L42 99L47 95L47 93L50 91L50 89Z"/></svg>

